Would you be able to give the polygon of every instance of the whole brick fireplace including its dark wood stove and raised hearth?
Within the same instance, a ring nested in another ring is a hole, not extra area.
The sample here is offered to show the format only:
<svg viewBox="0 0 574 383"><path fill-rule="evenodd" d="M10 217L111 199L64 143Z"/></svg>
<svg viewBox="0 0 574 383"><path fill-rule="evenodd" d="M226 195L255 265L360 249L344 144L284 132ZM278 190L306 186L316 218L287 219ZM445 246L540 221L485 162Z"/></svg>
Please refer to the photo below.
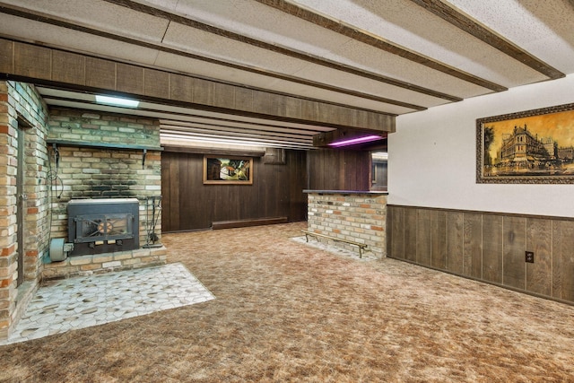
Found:
<svg viewBox="0 0 574 383"><path fill-rule="evenodd" d="M42 276L52 279L164 264L161 206L157 205L161 201L158 122L92 111L52 109L48 124L50 238L52 243L58 240L51 250L56 254L60 243L65 244L66 249L71 246L74 249L65 252L69 257L64 260L45 257ZM129 217L124 218L126 221L121 223L126 226L121 230L124 234L118 237L112 227L120 224L119 216L104 206L127 200L135 201L136 211L130 211ZM68 216L70 208L75 212L78 205L92 205L89 209L92 218L83 213L79 214L80 218L76 213ZM152 211L160 216L152 217ZM134 216L137 220L132 223ZM96 222L100 222L101 227ZM135 238L125 235L128 226ZM77 230L91 232L78 238ZM88 238L90 236L100 238ZM136 245L126 246L128 244Z"/></svg>

